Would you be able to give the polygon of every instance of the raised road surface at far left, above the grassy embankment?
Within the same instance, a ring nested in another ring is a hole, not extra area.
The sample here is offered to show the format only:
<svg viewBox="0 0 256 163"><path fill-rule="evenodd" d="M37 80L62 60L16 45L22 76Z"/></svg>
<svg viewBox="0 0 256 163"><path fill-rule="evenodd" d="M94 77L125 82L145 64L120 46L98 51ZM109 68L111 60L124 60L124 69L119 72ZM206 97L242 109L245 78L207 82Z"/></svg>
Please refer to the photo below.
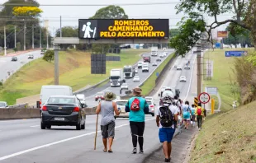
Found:
<svg viewBox="0 0 256 163"><path fill-rule="evenodd" d="M32 52L28 52L26 54L20 54L17 57L17 61L16 62L12 62L12 57L11 56L7 56L7 57L0 57L0 81L6 81L8 76L8 72L11 72L11 75L14 72L17 72L17 70L19 70L23 65L25 65L26 63L31 62L34 59L29 59L27 58L28 54L33 54L34 55L34 59L36 58L40 58L43 55L40 55L40 50L36 50L36 51L32 51Z"/></svg>

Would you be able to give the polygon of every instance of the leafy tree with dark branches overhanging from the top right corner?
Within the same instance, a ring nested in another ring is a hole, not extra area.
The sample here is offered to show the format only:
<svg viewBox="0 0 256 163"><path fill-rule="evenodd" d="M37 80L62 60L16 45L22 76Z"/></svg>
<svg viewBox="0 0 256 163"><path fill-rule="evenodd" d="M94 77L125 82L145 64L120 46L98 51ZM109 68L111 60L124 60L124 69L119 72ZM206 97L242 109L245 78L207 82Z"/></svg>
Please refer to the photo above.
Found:
<svg viewBox="0 0 256 163"><path fill-rule="evenodd" d="M255 1L256 0L182 0L182 2L176 6L178 9L177 13L185 12L188 16L183 17L180 22L179 30L181 32L173 38L173 40L177 41L177 44L171 40L172 46L178 49L180 54L185 54L198 40L202 40L201 35L205 33L207 34L205 40L211 41L212 43L211 30L228 23L232 23L235 26L239 26L251 32L256 30L253 26L256 24ZM233 18L218 21L218 16L227 12L233 12L233 10L235 12ZM252 16L253 14L254 16ZM204 16L214 17L214 21L208 24ZM235 28L235 30L237 29L238 28ZM185 34L183 34L183 32L185 32ZM252 32L251 35L254 36L255 34ZM255 41L256 38L254 38L254 44L256 45Z"/></svg>

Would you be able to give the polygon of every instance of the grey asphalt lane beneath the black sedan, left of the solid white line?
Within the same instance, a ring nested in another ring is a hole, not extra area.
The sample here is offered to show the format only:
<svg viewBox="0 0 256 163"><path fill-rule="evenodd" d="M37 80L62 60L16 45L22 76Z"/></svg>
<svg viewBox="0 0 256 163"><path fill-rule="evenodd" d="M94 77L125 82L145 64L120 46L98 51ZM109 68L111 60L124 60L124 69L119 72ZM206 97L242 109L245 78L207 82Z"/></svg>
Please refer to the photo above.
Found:
<svg viewBox="0 0 256 163"><path fill-rule="evenodd" d="M76 130L74 126L53 126L52 129L42 130L40 129L40 119L36 119L37 122L35 123L24 123L19 128L16 128L14 124L10 124L1 131L0 157L50 142L95 132L96 119L96 115L87 116L85 130ZM100 122L101 115L99 115L98 120Z"/></svg>

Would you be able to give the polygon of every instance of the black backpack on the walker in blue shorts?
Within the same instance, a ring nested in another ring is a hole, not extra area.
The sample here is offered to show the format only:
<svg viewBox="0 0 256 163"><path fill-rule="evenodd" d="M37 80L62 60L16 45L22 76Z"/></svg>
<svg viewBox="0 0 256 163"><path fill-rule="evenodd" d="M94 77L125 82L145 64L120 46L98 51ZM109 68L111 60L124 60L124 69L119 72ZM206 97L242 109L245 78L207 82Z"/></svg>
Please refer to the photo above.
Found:
<svg viewBox="0 0 256 163"><path fill-rule="evenodd" d="M164 128L171 127L173 125L173 113L168 106L162 106L159 108L161 112L160 123Z"/></svg>

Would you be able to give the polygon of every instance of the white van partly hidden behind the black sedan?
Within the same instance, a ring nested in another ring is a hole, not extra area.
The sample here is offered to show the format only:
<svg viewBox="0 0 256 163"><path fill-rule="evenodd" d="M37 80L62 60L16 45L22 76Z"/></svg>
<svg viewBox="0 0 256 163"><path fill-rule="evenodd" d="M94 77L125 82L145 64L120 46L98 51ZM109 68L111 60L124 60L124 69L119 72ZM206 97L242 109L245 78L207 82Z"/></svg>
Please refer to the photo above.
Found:
<svg viewBox="0 0 256 163"><path fill-rule="evenodd" d="M73 95L70 86L42 86L40 91L40 107L45 104L50 95Z"/></svg>

